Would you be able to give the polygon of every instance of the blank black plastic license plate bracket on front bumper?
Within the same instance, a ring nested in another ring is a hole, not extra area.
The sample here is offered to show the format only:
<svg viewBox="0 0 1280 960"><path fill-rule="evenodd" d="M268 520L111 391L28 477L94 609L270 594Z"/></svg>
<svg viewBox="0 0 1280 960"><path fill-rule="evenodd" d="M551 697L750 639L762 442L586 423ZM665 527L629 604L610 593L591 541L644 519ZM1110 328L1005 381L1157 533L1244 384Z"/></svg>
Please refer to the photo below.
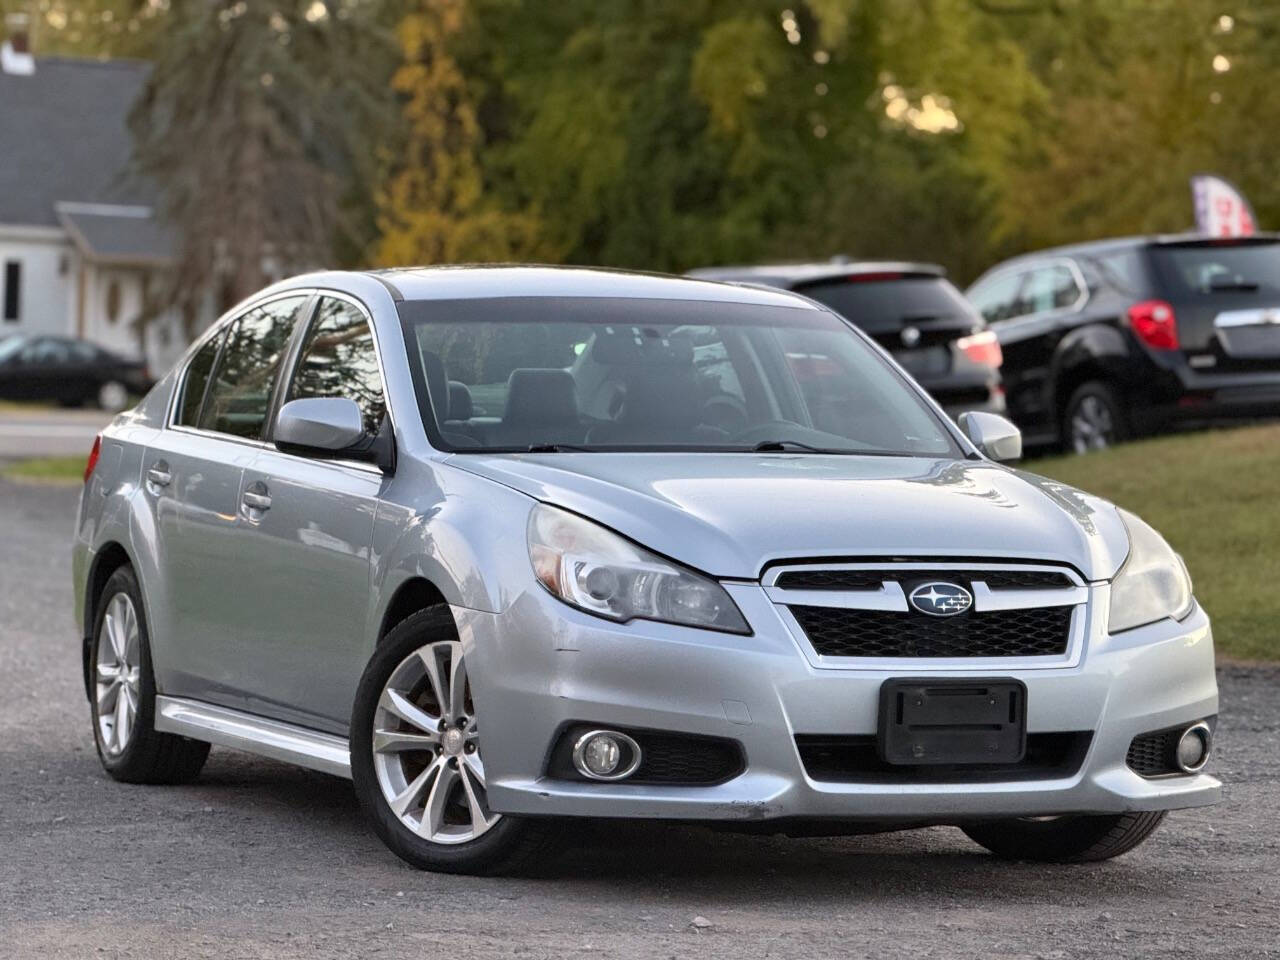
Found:
<svg viewBox="0 0 1280 960"><path fill-rule="evenodd" d="M895 765L1018 763L1027 753L1027 685L1010 677L886 680L877 748Z"/></svg>

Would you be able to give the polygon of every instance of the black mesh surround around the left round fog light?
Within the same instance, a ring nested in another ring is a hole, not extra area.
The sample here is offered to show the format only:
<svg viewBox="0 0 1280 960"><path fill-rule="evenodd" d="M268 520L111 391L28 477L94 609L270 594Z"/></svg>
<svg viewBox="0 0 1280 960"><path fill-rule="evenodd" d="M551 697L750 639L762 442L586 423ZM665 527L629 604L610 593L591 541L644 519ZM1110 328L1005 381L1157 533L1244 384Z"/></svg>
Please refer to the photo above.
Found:
<svg viewBox="0 0 1280 960"><path fill-rule="evenodd" d="M556 739L547 773L557 780L584 777L573 768L573 744L590 730L616 730L640 745L640 765L621 783L667 786L716 786L746 769L742 746L736 740L696 733L634 730L608 723L572 723Z"/></svg>

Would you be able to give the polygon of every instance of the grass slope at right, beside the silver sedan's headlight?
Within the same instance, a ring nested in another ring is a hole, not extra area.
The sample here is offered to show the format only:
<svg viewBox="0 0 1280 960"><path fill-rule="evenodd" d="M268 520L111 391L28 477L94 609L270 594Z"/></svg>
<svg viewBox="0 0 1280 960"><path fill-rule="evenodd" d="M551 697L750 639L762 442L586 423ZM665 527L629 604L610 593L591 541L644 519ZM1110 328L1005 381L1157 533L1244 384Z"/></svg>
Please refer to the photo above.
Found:
<svg viewBox="0 0 1280 960"><path fill-rule="evenodd" d="M1162 436L1025 468L1164 534L1187 561L1220 654L1280 659L1280 426Z"/></svg>

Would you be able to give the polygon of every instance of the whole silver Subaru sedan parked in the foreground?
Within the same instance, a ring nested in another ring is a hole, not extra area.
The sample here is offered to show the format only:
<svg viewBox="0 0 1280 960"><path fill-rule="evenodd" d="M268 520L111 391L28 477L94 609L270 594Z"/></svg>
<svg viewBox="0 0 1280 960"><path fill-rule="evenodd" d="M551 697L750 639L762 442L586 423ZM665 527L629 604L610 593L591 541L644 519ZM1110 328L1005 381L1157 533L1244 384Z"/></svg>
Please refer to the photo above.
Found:
<svg viewBox="0 0 1280 960"><path fill-rule="evenodd" d="M573 817L1115 856L1219 797L1210 625L1155 530L1019 454L781 291L294 278L93 445L99 755L351 777L435 870Z"/></svg>

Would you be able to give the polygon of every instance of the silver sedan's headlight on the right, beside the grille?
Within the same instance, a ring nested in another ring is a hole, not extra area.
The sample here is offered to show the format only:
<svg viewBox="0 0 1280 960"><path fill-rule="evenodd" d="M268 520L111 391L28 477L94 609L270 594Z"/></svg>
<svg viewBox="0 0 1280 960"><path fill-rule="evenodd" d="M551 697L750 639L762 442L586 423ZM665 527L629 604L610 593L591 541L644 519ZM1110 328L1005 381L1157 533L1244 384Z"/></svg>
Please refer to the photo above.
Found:
<svg viewBox="0 0 1280 960"><path fill-rule="evenodd" d="M1128 511L1120 518L1129 529L1129 558L1111 584L1107 630L1119 634L1192 609L1192 580L1183 559L1165 538Z"/></svg>

